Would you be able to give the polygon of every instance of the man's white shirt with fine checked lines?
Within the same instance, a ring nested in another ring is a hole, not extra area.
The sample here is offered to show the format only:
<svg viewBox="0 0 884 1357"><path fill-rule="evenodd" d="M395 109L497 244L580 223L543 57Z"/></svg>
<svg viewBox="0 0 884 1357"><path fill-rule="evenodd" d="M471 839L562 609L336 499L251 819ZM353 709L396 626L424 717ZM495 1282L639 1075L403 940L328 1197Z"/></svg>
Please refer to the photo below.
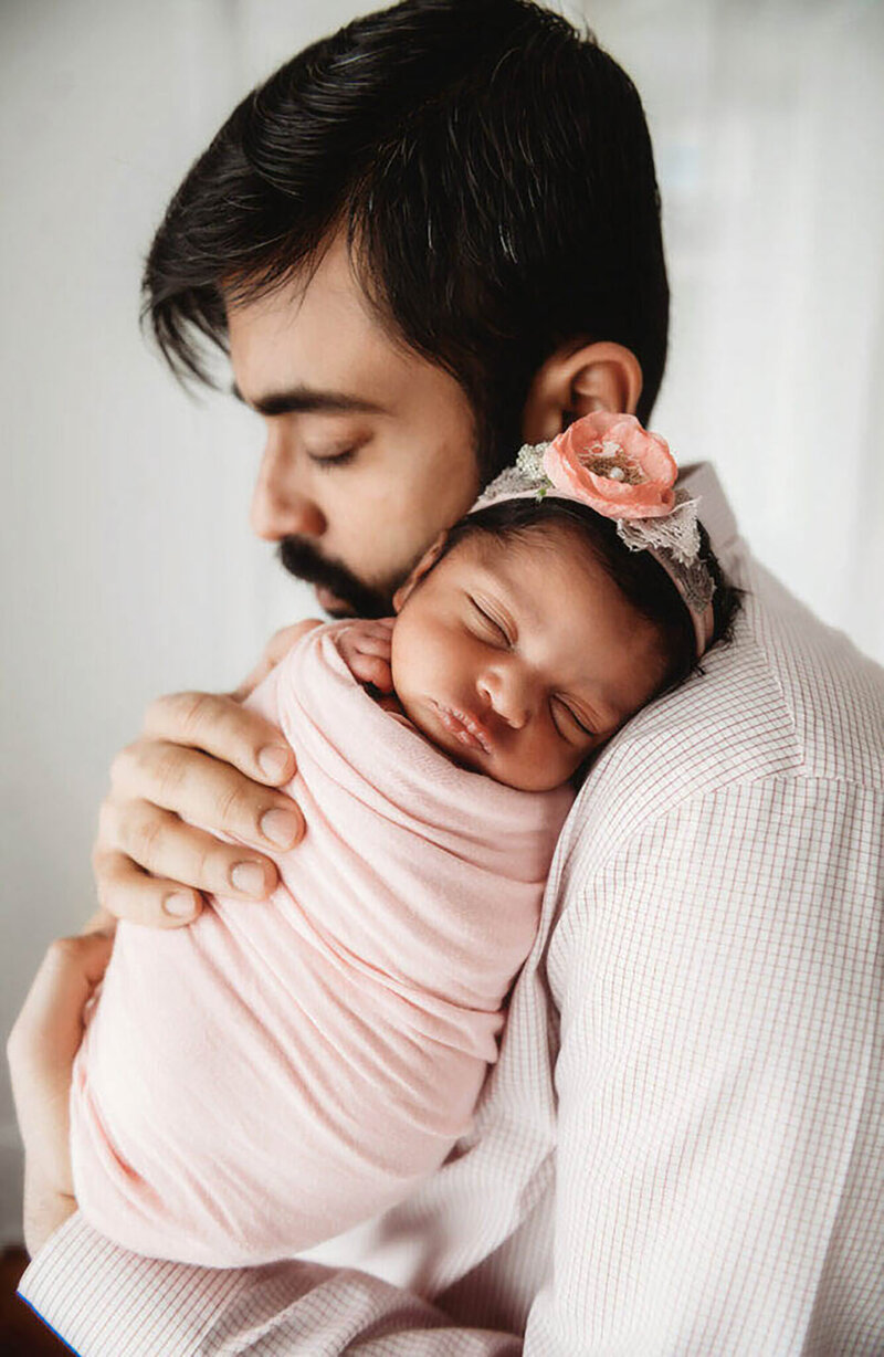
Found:
<svg viewBox="0 0 884 1357"><path fill-rule="evenodd" d="M884 676L686 482L735 639L588 778L470 1136L337 1265L73 1216L22 1293L84 1357L884 1353Z"/></svg>

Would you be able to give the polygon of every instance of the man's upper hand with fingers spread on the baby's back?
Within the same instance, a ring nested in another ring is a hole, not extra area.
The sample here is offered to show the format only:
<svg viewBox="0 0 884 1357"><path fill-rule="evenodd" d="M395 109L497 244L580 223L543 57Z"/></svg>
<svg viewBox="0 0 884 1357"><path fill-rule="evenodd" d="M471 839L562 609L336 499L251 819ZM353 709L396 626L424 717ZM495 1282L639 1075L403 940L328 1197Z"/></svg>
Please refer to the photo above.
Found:
<svg viewBox="0 0 884 1357"><path fill-rule="evenodd" d="M177 928L202 909L200 892L270 894L277 870L261 849L291 848L304 832L295 802L273 790L295 776L295 754L240 703L318 626L308 619L278 631L235 693L174 693L148 708L143 734L114 760L99 814L92 867L109 915Z"/></svg>

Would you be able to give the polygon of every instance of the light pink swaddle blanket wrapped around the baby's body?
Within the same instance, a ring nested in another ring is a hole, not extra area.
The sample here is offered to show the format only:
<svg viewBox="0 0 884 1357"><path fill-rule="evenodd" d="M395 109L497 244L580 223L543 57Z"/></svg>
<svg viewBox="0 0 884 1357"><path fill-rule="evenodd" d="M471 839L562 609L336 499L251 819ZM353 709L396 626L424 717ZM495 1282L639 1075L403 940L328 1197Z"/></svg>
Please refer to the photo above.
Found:
<svg viewBox="0 0 884 1357"><path fill-rule="evenodd" d="M470 1124L572 795L458 768L333 624L250 699L307 835L270 904L121 924L71 1094L75 1191L136 1253L291 1257L409 1194Z"/></svg>

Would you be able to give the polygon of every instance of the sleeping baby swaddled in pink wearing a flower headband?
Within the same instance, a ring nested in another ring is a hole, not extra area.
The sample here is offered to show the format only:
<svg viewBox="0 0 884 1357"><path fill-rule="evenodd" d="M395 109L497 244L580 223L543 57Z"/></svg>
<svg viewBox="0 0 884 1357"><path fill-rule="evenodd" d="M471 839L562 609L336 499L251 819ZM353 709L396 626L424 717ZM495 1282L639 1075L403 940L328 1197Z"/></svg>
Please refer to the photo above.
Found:
<svg viewBox="0 0 884 1357"><path fill-rule="evenodd" d="M307 835L266 908L219 897L189 930L119 925L71 1095L75 1191L100 1232L268 1262L445 1159L497 1057L574 775L733 611L675 476L630 417L578 421L433 544L394 620L315 628L255 691L297 756Z"/></svg>

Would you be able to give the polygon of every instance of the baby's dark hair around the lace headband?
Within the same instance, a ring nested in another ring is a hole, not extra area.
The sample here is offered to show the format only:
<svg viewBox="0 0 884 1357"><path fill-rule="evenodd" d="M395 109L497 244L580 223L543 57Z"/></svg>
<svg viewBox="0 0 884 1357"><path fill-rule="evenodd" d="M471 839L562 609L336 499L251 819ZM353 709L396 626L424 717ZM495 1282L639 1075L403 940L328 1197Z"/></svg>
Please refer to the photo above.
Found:
<svg viewBox="0 0 884 1357"><path fill-rule="evenodd" d="M694 623L672 579L649 552L630 551L618 536L616 524L588 505L555 497L498 499L460 518L448 533L443 555L478 533L512 543L530 540L554 525L569 529L610 575L626 601L659 630L667 669L656 696L676 688L695 670L702 672L697 658ZM701 558L716 585L712 646L729 641L740 608L740 590L725 578L702 525L699 539Z"/></svg>

